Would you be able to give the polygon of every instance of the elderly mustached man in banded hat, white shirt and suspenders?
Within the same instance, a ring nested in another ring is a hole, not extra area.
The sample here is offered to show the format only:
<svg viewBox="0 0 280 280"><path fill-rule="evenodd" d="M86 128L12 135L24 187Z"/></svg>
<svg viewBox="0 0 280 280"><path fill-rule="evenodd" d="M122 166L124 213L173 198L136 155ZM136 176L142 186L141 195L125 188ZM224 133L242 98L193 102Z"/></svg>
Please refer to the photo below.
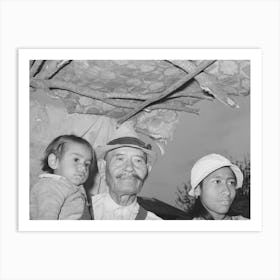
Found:
<svg viewBox="0 0 280 280"><path fill-rule="evenodd" d="M151 171L155 153L136 132L121 126L105 145L96 148L99 172L108 191L93 196L95 220L161 220L137 203Z"/></svg>

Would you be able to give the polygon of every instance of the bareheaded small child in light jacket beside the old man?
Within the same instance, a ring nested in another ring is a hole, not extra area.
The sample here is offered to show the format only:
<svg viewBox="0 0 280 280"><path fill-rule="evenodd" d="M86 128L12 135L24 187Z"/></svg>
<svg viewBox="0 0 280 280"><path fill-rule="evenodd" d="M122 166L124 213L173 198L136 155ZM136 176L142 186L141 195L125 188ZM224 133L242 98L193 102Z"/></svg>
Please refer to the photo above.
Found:
<svg viewBox="0 0 280 280"><path fill-rule="evenodd" d="M55 138L42 159L46 173L31 189L31 220L85 219L88 204L83 184L93 169L94 158L93 148L85 139L75 135Z"/></svg>

